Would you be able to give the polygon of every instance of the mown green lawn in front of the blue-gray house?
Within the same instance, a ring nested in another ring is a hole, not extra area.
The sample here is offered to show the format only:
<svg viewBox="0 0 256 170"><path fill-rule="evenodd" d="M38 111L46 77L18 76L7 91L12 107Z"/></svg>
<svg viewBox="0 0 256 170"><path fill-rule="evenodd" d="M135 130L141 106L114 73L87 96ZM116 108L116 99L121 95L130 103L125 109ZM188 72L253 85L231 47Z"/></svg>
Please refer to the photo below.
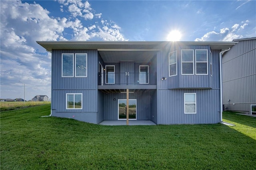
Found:
<svg viewBox="0 0 256 170"><path fill-rule="evenodd" d="M102 126L56 117L50 105L1 112L1 170L256 169L256 118L214 125Z"/></svg>

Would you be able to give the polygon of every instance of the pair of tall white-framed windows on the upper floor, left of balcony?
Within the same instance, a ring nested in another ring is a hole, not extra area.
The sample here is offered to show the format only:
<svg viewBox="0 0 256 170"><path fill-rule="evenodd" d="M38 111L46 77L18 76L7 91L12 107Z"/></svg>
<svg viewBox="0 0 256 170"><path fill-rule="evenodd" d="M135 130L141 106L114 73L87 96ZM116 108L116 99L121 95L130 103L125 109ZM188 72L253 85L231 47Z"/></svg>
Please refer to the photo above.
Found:
<svg viewBox="0 0 256 170"><path fill-rule="evenodd" d="M73 53L62 53L62 77L74 77L74 72L75 77L87 77L86 53L76 53L75 60Z"/></svg>

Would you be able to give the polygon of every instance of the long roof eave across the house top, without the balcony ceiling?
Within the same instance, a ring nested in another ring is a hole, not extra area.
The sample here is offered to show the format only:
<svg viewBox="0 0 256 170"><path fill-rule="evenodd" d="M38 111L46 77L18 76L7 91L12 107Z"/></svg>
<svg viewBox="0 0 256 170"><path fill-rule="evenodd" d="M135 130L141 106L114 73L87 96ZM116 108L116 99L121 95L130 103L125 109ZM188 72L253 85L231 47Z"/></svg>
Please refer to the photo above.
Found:
<svg viewBox="0 0 256 170"><path fill-rule="evenodd" d="M52 49L97 49L98 51L159 51L166 45L210 45L211 49L227 49L237 42L90 42L90 41L37 41L47 51Z"/></svg>

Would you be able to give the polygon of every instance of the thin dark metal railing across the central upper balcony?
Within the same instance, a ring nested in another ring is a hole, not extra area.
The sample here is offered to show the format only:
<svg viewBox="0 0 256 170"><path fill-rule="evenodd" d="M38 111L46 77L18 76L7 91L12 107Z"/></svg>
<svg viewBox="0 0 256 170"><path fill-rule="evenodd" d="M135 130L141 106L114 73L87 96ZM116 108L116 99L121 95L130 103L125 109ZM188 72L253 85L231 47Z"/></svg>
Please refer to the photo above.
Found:
<svg viewBox="0 0 256 170"><path fill-rule="evenodd" d="M98 85L156 85L156 73L98 73Z"/></svg>

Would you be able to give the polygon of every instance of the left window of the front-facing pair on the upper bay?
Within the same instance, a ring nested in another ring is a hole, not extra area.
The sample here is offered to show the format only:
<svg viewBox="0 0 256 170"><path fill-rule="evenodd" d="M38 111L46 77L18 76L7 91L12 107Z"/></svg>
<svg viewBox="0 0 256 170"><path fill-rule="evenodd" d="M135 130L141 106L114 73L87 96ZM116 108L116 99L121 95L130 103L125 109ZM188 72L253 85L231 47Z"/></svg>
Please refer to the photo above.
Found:
<svg viewBox="0 0 256 170"><path fill-rule="evenodd" d="M194 74L194 50L183 49L181 50L181 74L192 75Z"/></svg>

